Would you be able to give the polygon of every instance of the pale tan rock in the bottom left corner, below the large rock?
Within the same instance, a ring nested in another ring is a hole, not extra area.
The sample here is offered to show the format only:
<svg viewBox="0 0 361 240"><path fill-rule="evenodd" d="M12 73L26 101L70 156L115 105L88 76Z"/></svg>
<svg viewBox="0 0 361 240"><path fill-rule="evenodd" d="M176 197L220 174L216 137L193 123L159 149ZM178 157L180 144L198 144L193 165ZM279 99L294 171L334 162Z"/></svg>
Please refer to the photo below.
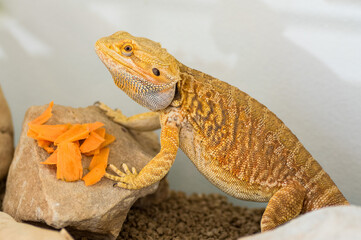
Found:
<svg viewBox="0 0 361 240"><path fill-rule="evenodd" d="M0 239L72 240L73 238L65 229L58 232L34 227L30 224L18 223L8 214L0 212Z"/></svg>

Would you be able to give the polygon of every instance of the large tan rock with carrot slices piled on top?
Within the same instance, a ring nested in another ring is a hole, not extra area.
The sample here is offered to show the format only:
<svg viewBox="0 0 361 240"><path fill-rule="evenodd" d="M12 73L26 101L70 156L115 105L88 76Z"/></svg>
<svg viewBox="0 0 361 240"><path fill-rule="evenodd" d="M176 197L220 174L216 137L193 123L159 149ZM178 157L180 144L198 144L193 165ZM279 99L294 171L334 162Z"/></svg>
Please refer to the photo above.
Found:
<svg viewBox="0 0 361 240"><path fill-rule="evenodd" d="M138 198L154 193L158 183L140 190L126 190L113 187L114 182L105 178L89 187L83 181L57 180L54 167L40 164L49 156L48 153L40 149L34 139L26 136L28 122L45 108L31 107L25 115L10 166L4 212L16 220L43 222L57 229L67 227L115 238L132 204ZM140 171L160 149L155 133L129 131L108 119L95 106L74 109L54 105L53 116L46 124L94 121L103 122L107 132L116 137L110 145L109 155L109 163L115 166L126 163ZM136 140L140 138L142 142ZM89 165L90 159L83 156L84 166Z"/></svg>

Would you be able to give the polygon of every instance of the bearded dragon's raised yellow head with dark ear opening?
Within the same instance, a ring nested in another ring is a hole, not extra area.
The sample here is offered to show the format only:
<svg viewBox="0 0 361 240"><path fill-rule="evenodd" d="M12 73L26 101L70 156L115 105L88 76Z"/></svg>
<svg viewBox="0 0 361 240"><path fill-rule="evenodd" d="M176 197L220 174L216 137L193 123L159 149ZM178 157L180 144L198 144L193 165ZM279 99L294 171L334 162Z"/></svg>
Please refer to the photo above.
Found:
<svg viewBox="0 0 361 240"><path fill-rule="evenodd" d="M140 105L157 111L172 102L178 62L159 43L116 32L99 39L95 50L115 84Z"/></svg>

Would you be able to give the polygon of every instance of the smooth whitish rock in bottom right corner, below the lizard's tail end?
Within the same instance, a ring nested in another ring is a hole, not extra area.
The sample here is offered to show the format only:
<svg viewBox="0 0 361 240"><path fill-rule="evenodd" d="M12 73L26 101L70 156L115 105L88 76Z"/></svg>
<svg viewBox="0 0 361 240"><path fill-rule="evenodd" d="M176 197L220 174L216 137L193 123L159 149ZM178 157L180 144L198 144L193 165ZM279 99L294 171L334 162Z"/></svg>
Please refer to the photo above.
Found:
<svg viewBox="0 0 361 240"><path fill-rule="evenodd" d="M302 215L272 231L240 238L242 240L360 239L361 207L322 208Z"/></svg>

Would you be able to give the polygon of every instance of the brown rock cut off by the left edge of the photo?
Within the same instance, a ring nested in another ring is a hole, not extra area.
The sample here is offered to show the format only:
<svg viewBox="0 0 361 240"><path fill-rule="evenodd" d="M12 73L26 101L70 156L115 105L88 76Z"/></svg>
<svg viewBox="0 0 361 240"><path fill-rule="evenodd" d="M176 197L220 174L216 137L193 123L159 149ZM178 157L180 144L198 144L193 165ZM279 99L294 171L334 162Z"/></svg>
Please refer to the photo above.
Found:
<svg viewBox="0 0 361 240"><path fill-rule="evenodd" d="M8 173L14 154L13 123L9 106L0 87L0 180Z"/></svg>

